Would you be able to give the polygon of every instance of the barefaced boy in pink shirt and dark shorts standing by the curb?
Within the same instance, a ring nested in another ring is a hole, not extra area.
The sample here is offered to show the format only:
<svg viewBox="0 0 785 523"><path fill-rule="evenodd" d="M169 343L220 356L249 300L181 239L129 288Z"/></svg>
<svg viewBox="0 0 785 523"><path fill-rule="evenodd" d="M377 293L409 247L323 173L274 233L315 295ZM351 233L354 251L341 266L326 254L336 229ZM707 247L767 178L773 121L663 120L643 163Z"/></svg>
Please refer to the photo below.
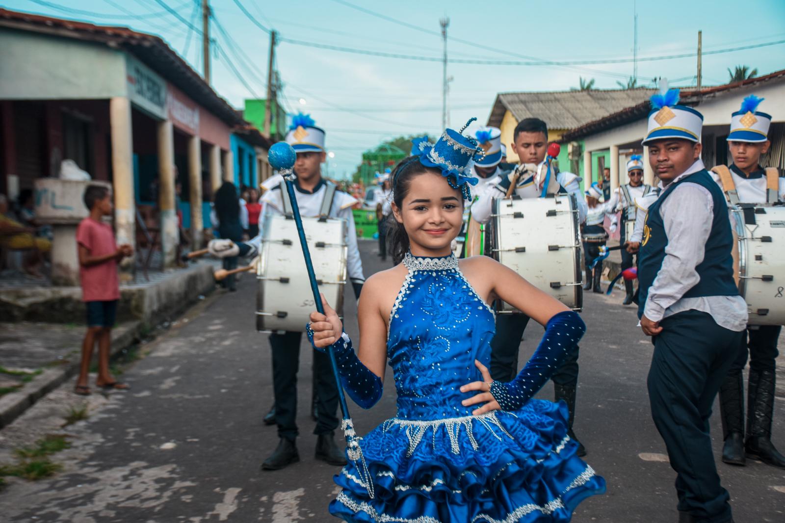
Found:
<svg viewBox="0 0 785 523"><path fill-rule="evenodd" d="M82 284L82 301L87 307L87 332L82 342L82 361L75 393L89 396L87 378L93 346L98 342L98 377L96 385L106 389L127 389L109 374L109 348L111 327L115 325L117 302L120 299L120 282L117 263L130 256L130 245L117 247L111 225L102 221L111 214L111 197L105 187L90 185L83 196L90 210L89 217L76 229L79 249L79 281Z"/></svg>

